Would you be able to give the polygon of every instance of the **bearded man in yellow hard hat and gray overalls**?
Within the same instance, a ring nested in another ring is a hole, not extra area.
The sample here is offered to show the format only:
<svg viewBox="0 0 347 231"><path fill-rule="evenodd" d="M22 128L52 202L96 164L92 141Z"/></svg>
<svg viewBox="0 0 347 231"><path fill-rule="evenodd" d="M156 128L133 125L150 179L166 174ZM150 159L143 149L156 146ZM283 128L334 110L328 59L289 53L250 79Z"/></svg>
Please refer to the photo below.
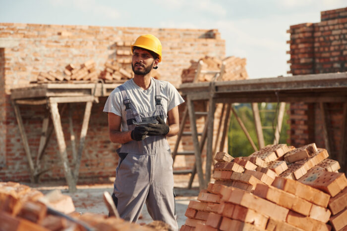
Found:
<svg viewBox="0 0 347 231"><path fill-rule="evenodd" d="M137 222L146 202L153 220L178 230L173 159L166 137L178 133L178 105L184 100L172 84L151 77L162 59L158 38L138 37L131 52L134 78L118 86L104 108L110 140L122 144L112 197L121 218Z"/></svg>

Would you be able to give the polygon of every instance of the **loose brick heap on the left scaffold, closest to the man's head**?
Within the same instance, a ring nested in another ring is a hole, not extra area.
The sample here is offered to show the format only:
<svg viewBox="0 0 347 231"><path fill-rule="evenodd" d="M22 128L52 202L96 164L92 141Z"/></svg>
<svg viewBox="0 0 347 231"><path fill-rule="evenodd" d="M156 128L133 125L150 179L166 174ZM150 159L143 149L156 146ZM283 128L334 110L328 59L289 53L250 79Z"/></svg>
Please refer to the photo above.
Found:
<svg viewBox="0 0 347 231"><path fill-rule="evenodd" d="M104 79L105 82L124 81L132 77L132 71L122 68L115 60L108 60L105 69L100 73L100 79Z"/></svg>

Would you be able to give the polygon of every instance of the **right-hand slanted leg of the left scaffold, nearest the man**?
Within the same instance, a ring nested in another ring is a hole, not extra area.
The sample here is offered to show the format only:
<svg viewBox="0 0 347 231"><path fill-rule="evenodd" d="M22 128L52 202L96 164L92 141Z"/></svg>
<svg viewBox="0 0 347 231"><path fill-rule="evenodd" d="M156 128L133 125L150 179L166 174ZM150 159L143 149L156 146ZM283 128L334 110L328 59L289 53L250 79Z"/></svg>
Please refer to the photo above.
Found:
<svg viewBox="0 0 347 231"><path fill-rule="evenodd" d="M88 124L90 119L90 113L92 111L92 105L93 105L93 101L88 101L86 103L86 108L84 110L84 117L83 117L81 135L79 138L79 145L78 145L78 152L77 152L77 160L75 163L75 168L73 173L76 182L78 180L79 166L81 164L81 157L82 157L82 152L84 148L84 142L85 142L87 131L88 131Z"/></svg>

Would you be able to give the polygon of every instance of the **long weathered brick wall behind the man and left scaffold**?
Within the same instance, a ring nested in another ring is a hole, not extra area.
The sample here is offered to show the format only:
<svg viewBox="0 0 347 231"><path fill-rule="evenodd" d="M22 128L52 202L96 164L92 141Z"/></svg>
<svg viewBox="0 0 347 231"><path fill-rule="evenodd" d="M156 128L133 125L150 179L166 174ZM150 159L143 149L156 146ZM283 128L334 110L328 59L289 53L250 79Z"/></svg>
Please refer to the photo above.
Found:
<svg viewBox="0 0 347 231"><path fill-rule="evenodd" d="M162 80L178 87L183 69L190 60L208 55L225 57L225 41L217 30L125 28L73 25L42 25L0 23L0 180L29 181L29 166L20 139L10 89L35 81L41 71L63 70L68 63L83 63L94 59L99 70L107 59L117 59L117 42L133 42L140 34L152 33L163 44L163 62L158 72ZM128 64L129 65L129 64ZM117 144L108 137L107 115L102 113L106 97L94 103L80 167L80 178L114 177L117 164ZM79 137L84 103L73 104L74 133ZM61 106L61 105L60 105ZM61 108L60 108L61 109ZM24 127L35 163L41 135L42 119L48 113L46 105L20 105ZM61 114L61 122L71 158L68 109ZM51 124L52 125L52 124ZM175 137L169 142L173 148ZM77 144L78 145L78 142ZM182 147L184 148L184 147ZM191 166L184 159L179 166ZM64 179L55 134L48 143L41 169L49 169L43 181Z"/></svg>

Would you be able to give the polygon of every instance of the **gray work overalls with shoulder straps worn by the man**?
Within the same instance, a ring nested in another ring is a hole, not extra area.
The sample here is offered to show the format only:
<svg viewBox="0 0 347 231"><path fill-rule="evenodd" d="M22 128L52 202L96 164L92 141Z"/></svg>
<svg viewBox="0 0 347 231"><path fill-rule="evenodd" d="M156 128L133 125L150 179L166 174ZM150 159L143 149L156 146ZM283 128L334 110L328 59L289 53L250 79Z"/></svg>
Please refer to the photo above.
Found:
<svg viewBox="0 0 347 231"><path fill-rule="evenodd" d="M123 86L118 86L126 108L128 130L133 121L145 122L156 116L167 115L161 104L159 81L155 80L155 111L138 113ZM124 143L119 155L113 199L121 218L137 222L146 202L153 220L163 221L178 230L173 192L173 159L164 136L148 136L141 141Z"/></svg>

